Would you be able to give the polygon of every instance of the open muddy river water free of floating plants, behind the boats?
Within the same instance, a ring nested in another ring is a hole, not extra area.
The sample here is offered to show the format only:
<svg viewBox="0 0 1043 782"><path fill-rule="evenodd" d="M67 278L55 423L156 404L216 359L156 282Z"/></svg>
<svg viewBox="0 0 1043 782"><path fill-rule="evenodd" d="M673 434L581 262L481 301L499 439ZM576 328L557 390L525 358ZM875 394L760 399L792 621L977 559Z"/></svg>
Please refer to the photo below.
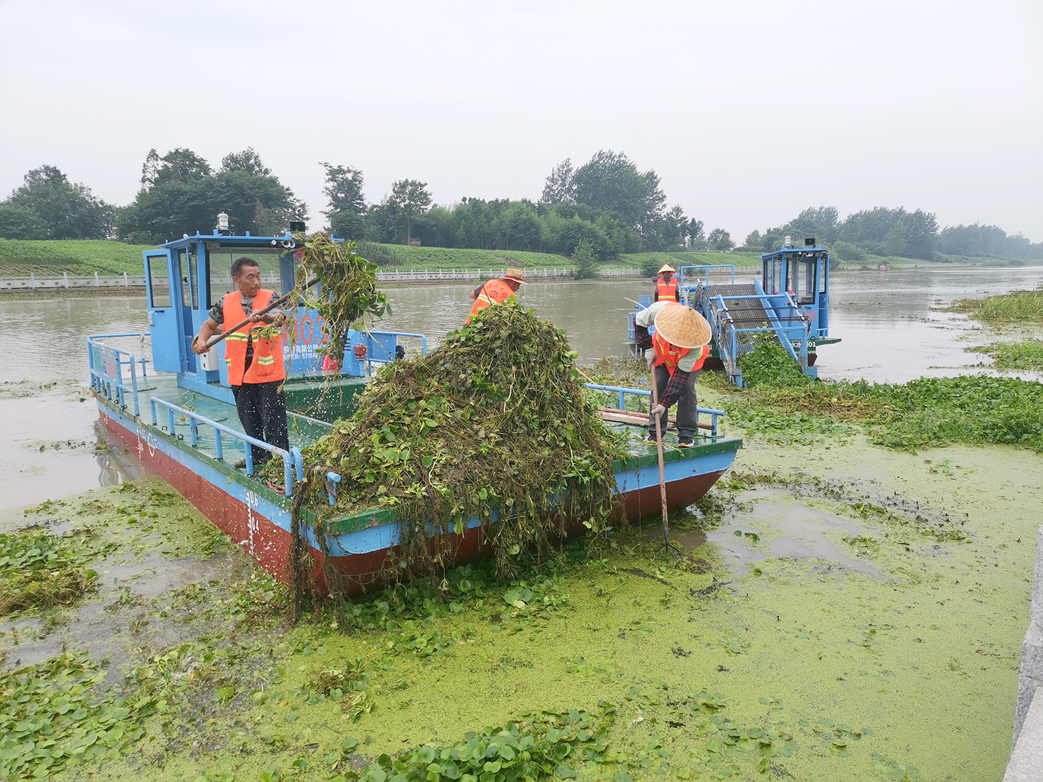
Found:
<svg viewBox="0 0 1043 782"><path fill-rule="evenodd" d="M820 375L903 383L985 371L983 361L989 360L965 348L1018 332L998 334L936 309L1041 282L1039 267L835 273L830 335L843 341L820 348ZM433 346L463 321L471 287L388 289L393 312L377 327L427 334ZM637 279L534 283L522 289L522 301L563 327L580 363L589 363L624 355L626 314L633 310L627 298L649 292L650 284ZM84 338L142 329L147 334L143 296L0 299L0 510L120 480L112 457L94 453L97 410L83 393L89 376ZM123 340L120 346L138 352L139 340ZM48 384L54 385L43 387Z"/></svg>

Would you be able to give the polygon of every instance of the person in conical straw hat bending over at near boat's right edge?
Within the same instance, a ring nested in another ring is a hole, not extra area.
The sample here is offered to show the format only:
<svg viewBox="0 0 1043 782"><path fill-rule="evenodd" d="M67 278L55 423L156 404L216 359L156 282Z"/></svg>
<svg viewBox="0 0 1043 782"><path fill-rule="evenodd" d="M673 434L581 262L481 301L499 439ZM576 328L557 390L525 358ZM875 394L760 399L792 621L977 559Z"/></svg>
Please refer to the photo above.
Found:
<svg viewBox="0 0 1043 782"><path fill-rule="evenodd" d="M649 326L655 324L655 334ZM659 300L634 318L634 341L646 351L649 369L655 372L659 404L649 413L649 440L655 442L655 416L666 431L666 411L677 402L677 444L696 442L696 377L710 355L710 326L690 307Z"/></svg>

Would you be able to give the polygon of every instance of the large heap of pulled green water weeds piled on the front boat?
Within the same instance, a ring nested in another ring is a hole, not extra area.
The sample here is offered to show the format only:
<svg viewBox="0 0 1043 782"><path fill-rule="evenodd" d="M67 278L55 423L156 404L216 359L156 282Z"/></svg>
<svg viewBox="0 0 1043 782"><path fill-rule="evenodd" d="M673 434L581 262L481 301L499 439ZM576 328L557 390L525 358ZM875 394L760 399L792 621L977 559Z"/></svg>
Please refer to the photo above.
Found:
<svg viewBox="0 0 1043 782"><path fill-rule="evenodd" d="M531 312L483 310L427 357L380 371L356 414L305 450L296 503L312 509L319 532L339 515L394 511L397 576L436 576L451 552L430 541L463 533L475 518L503 577L533 548L540 558L567 522L603 530L613 511L612 460L624 453L596 417L575 357L564 331ZM328 471L342 476L336 508ZM324 566L336 584L328 558Z"/></svg>

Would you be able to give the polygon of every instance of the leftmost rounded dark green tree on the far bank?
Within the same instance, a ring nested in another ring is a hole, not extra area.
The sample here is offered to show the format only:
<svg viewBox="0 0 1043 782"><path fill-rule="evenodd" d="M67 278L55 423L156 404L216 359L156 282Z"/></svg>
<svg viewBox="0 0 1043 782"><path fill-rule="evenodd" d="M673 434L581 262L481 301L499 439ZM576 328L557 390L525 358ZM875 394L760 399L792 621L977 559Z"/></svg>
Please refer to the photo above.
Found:
<svg viewBox="0 0 1043 782"><path fill-rule="evenodd" d="M33 225L42 226L44 239L107 239L116 218L112 204L96 198L86 185L69 181L54 166L29 171L6 203L35 215Z"/></svg>

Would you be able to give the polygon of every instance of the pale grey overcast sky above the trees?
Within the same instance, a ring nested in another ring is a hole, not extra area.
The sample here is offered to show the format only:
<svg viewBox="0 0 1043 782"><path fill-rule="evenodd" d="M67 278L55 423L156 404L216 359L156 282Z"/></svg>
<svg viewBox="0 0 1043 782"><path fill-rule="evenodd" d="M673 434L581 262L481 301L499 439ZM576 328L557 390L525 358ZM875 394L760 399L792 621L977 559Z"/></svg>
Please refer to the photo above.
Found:
<svg viewBox="0 0 1043 782"><path fill-rule="evenodd" d="M736 239L833 204L1043 241L1041 0L0 0L0 197L252 146L318 227L320 161L447 204L613 149Z"/></svg>

